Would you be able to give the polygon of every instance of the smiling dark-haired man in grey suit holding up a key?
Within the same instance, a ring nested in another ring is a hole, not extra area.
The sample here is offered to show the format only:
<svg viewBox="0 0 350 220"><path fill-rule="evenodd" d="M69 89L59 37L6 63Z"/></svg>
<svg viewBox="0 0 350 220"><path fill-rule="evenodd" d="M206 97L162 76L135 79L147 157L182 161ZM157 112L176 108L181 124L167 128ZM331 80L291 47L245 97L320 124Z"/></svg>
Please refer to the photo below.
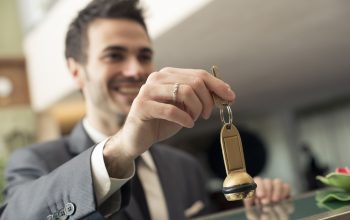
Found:
<svg viewBox="0 0 350 220"><path fill-rule="evenodd" d="M178 220L208 212L198 164L156 143L208 118L211 92L235 95L203 70L154 72L137 4L94 0L70 25L66 58L86 116L70 136L14 153L1 219ZM283 183L267 185L268 200L289 193Z"/></svg>

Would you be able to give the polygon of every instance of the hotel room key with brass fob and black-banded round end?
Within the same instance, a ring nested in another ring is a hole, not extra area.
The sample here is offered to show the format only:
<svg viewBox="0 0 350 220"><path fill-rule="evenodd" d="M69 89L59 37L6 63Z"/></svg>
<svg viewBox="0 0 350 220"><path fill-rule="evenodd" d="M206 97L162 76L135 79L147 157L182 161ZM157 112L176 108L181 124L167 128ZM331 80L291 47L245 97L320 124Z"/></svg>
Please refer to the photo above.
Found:
<svg viewBox="0 0 350 220"><path fill-rule="evenodd" d="M212 67L212 74L218 77L215 66ZM220 142L227 176L222 192L228 201L251 198L254 196L256 183L246 172L241 137L232 124L231 103L220 99L215 94L213 99L215 105L220 108L220 118L224 124L220 133ZM228 122L225 121L224 109L228 113Z"/></svg>

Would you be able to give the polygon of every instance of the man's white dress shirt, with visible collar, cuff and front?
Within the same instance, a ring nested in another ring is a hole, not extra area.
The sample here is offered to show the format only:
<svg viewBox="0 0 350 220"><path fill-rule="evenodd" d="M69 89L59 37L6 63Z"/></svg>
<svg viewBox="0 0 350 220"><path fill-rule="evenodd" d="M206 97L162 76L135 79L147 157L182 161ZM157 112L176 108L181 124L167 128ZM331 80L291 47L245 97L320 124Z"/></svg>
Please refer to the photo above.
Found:
<svg viewBox="0 0 350 220"><path fill-rule="evenodd" d="M86 119L83 120L83 126L89 137L95 143L99 143L92 152L91 166L97 204L101 205L135 175L135 163L132 170L128 172L125 178L116 179L109 177L103 157L103 148L108 140L108 137L92 127ZM169 219L164 193L158 177L157 167L155 166L149 151L146 151L141 155L141 161L138 164L137 169L145 192L151 219ZM108 213L107 216L113 214L119 209L120 204L117 204L113 212Z"/></svg>

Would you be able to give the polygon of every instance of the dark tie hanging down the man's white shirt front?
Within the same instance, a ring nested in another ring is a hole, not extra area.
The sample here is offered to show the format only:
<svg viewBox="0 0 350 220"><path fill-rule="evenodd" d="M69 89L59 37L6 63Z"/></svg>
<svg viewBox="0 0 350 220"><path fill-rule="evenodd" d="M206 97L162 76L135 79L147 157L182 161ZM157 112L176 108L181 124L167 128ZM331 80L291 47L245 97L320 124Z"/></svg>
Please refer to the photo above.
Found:
<svg viewBox="0 0 350 220"><path fill-rule="evenodd" d="M145 192L143 190L140 178L137 174L137 166L138 166L138 163L141 162L140 159L141 158L136 159L136 174L131 180L131 194L135 198L138 206L140 207L140 210L142 212L144 219L151 220Z"/></svg>

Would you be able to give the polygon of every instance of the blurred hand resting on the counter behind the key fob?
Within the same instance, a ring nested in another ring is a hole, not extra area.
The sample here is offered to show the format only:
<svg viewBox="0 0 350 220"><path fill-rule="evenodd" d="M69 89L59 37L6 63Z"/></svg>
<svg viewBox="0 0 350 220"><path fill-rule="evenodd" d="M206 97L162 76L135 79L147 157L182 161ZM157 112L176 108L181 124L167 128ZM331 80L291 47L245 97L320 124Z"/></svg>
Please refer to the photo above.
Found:
<svg viewBox="0 0 350 220"><path fill-rule="evenodd" d="M267 205L290 196L290 186L280 179L255 177L254 181L257 184L255 197L244 200L244 205L246 207L250 207L254 204Z"/></svg>

